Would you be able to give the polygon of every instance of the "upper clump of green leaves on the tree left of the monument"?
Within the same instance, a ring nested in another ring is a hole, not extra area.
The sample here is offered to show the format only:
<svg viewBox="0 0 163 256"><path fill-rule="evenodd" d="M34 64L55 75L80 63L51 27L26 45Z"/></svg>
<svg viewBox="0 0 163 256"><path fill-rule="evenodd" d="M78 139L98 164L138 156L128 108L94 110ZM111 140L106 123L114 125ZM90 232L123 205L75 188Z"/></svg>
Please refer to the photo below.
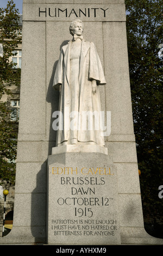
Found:
<svg viewBox="0 0 163 256"><path fill-rule="evenodd" d="M0 8L0 44L3 45L3 57L0 58L0 97L4 93L10 93L5 83L10 86L20 84L20 70L17 74L13 69L15 64L9 62L9 58L13 56L12 51L21 43L18 19L18 10L13 1L8 1L7 8Z"/></svg>

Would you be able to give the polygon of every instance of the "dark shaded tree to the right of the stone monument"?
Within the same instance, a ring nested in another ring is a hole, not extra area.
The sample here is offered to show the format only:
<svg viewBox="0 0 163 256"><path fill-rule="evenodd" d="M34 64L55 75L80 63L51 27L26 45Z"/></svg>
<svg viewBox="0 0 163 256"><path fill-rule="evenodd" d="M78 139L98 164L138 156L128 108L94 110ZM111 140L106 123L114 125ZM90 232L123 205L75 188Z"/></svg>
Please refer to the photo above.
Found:
<svg viewBox="0 0 163 256"><path fill-rule="evenodd" d="M162 199L162 1L126 0L131 98L143 215L163 224ZM149 230L148 230L149 231ZM163 237L162 230L150 231ZM150 233L149 232L149 233ZM162 232L162 233L161 233Z"/></svg>

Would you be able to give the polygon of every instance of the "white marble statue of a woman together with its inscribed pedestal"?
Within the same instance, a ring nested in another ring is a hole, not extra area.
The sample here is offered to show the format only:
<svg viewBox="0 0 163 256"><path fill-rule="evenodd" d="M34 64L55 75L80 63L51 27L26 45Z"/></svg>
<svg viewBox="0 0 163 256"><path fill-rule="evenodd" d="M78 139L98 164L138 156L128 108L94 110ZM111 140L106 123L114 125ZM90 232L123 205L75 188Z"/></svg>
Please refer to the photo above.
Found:
<svg viewBox="0 0 163 256"><path fill-rule="evenodd" d="M99 95L106 81L83 31L81 20L71 22L73 38L61 48L54 75L60 100L56 147L48 157L47 243L117 245L117 173L104 148Z"/></svg>

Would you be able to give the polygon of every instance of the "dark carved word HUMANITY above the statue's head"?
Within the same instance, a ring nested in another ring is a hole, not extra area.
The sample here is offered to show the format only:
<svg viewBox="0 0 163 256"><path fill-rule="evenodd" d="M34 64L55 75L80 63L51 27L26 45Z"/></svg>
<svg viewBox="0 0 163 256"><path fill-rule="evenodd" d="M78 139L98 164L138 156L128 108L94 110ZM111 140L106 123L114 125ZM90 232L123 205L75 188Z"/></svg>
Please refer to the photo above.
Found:
<svg viewBox="0 0 163 256"><path fill-rule="evenodd" d="M106 11L107 9L103 9L103 8L83 8L79 10L76 9L71 9L68 10L68 8L62 10L60 8L40 8L39 7L39 17L42 15L45 15L45 17L50 16L50 17L60 17L62 15L64 15L65 17L96 17L97 15L103 15L103 17L106 17Z"/></svg>

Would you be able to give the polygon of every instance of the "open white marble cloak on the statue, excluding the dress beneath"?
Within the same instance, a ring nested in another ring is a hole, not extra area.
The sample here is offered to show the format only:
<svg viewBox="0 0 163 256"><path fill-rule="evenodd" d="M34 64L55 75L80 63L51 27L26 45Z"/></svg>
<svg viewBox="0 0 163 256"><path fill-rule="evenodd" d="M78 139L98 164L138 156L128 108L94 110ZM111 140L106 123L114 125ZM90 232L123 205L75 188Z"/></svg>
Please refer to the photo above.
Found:
<svg viewBox="0 0 163 256"><path fill-rule="evenodd" d="M55 70L53 88L58 88L61 84L59 111L62 113L59 117L59 130L57 134L57 145L67 142L70 139L70 112L78 112L78 119L84 113L100 113L101 103L99 97L99 85L106 84L101 61L93 42L82 41L79 64L79 95L78 109L71 109L71 84L70 84L70 48L71 41L61 48L57 68ZM97 91L92 93L92 80L97 81ZM97 114L97 115L98 115ZM84 117L84 116L83 116ZM82 119L80 119L82 120ZM78 122L78 131L76 139L79 143L95 142L98 145L104 145L103 131L97 118L93 119L93 129L82 129L82 122ZM95 126L99 126L96 130ZM71 142L70 142L71 144ZM89 144L89 143L87 143ZM90 143L91 144L91 143Z"/></svg>

